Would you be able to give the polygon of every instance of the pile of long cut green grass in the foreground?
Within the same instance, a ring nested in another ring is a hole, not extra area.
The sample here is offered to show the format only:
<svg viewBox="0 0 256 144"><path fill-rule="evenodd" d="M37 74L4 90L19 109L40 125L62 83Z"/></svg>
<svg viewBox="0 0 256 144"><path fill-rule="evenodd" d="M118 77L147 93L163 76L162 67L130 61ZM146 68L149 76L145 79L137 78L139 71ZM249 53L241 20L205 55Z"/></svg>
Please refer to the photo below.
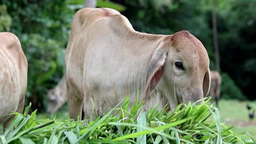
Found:
<svg viewBox="0 0 256 144"><path fill-rule="evenodd" d="M37 120L36 111L28 114L29 105L24 114L15 113L0 144L256 144L249 133L235 134L221 123L209 99L198 102L185 108L180 104L174 111L158 106L143 111L144 102L137 100L128 112L126 98L103 117L78 122Z"/></svg>

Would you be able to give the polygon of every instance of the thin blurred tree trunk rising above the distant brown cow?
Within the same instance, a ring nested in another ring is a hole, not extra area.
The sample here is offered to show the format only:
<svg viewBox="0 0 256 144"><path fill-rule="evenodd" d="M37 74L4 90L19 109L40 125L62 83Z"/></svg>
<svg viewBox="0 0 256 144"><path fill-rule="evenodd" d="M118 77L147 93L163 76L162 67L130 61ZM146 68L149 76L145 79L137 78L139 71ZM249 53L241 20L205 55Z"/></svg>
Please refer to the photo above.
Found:
<svg viewBox="0 0 256 144"><path fill-rule="evenodd" d="M216 70L220 71L220 55L219 55L219 46L218 46L218 37L217 37L217 20L216 20L216 0L213 0L213 9L211 11L212 21L213 21L213 45L215 51L215 65Z"/></svg>

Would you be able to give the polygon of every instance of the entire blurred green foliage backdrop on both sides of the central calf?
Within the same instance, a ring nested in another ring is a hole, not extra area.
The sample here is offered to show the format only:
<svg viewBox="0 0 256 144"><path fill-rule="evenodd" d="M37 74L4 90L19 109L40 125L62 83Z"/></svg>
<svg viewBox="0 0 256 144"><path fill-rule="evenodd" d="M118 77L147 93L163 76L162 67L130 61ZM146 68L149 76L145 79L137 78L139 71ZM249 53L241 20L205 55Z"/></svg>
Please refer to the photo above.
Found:
<svg viewBox="0 0 256 144"><path fill-rule="evenodd" d="M42 110L46 92L64 73L71 21L84 0L1 0L0 31L16 34L27 56L27 101ZM204 44L215 69L212 0L98 0L122 12L137 31L174 34L189 30ZM217 28L224 98L253 98L256 74L256 1L217 0ZM241 88L241 89L240 89ZM244 93L244 94L243 94Z"/></svg>

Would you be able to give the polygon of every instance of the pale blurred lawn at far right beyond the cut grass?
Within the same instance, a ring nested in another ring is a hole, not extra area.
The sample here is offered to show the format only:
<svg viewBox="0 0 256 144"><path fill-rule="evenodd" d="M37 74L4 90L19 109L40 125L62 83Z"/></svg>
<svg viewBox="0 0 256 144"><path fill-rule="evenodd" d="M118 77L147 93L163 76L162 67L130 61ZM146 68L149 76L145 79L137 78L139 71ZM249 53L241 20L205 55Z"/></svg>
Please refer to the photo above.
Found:
<svg viewBox="0 0 256 144"><path fill-rule="evenodd" d="M226 122L227 126L234 125L234 132L248 131L253 138L256 138L256 118L249 120L249 111L246 108L247 102L237 100L221 100L220 115L221 121ZM256 110L256 102L250 102L252 108Z"/></svg>

